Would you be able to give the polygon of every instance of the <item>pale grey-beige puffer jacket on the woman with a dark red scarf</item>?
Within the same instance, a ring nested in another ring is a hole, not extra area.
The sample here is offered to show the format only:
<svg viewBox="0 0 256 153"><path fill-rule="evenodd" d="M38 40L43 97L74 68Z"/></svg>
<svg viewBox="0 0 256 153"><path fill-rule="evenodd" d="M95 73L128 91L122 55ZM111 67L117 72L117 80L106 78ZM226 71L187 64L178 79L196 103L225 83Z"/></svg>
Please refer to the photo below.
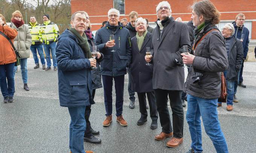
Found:
<svg viewBox="0 0 256 153"><path fill-rule="evenodd" d="M14 46L20 57L29 58L30 46L32 44L32 36L29 28L25 24L17 28L13 23L11 23L11 27L18 31L18 35L14 39Z"/></svg>

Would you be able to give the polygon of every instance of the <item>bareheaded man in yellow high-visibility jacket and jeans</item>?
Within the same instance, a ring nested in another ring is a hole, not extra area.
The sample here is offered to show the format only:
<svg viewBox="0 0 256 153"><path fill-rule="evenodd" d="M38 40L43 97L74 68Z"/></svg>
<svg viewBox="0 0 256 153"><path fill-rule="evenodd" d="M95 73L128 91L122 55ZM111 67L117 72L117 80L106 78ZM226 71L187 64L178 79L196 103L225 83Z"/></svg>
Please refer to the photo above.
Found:
<svg viewBox="0 0 256 153"><path fill-rule="evenodd" d="M32 45L30 46L30 50L35 60L34 69L39 68L39 60L37 57L37 52L38 52L43 70L45 70L46 67L45 67L44 51L43 51L43 45L42 45L43 39L42 39L40 27L41 25L37 23L37 19L35 18L35 16L31 16L28 28L30 30L30 34L32 35Z"/></svg>

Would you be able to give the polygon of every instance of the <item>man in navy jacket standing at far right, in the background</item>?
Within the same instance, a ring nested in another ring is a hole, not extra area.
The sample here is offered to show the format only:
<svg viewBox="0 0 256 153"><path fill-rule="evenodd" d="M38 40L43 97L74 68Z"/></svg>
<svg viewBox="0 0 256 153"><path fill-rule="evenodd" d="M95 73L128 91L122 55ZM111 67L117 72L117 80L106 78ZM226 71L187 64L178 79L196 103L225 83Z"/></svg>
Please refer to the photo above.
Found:
<svg viewBox="0 0 256 153"><path fill-rule="evenodd" d="M236 15L236 19L235 22L233 22L233 25L235 27L235 34L234 36L238 39L240 39L243 43L243 48L244 48L244 60L247 57L247 53L248 53L248 45L249 45L249 30L248 28L246 28L244 26L245 23L245 15L243 13L239 13L238 15ZM242 34L244 34L244 36L242 37ZM239 72L239 79L238 82L235 83L235 92L234 92L234 102L238 102L238 99L236 98L236 90L237 90L237 86L240 87L244 87L246 88L246 86L243 84L243 68L244 68L244 60L242 61L242 66Z"/></svg>

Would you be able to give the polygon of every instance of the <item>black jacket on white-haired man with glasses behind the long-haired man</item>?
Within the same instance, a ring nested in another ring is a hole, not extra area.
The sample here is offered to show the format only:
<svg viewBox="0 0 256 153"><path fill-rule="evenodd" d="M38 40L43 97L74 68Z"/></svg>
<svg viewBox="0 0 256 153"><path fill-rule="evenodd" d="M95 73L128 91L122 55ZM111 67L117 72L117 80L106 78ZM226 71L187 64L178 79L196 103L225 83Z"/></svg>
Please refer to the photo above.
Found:
<svg viewBox="0 0 256 153"><path fill-rule="evenodd" d="M236 81L238 80L238 73L242 65L244 58L244 49L240 39L237 39L234 35L231 36L231 42L229 46L229 68L226 73L226 80Z"/></svg>

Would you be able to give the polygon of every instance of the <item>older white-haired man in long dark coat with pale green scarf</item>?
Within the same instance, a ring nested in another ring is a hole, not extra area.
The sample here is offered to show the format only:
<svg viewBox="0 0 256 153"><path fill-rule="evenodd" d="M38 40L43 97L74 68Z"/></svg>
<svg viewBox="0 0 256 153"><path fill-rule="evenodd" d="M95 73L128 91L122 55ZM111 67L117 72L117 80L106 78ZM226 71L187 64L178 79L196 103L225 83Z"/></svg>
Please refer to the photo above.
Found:
<svg viewBox="0 0 256 153"><path fill-rule="evenodd" d="M131 88L137 92L140 107L140 119L138 125L144 124L148 119L146 110L146 95L148 97L149 111L151 117L151 129L157 128L157 106L152 85L153 65L146 65L146 48L151 47L152 34L146 29L146 20L137 18L135 22L137 34L131 39L132 43L132 62L131 62ZM150 50L149 50L150 51Z"/></svg>

